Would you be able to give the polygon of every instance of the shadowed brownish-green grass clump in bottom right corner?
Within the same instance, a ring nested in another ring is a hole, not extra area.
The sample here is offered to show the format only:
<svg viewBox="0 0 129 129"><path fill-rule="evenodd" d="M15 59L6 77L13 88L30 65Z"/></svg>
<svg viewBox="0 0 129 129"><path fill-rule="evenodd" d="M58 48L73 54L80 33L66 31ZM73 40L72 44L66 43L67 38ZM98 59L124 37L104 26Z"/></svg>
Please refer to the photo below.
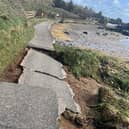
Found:
<svg viewBox="0 0 129 129"><path fill-rule="evenodd" d="M120 95L121 94L121 95ZM98 129L127 129L129 102L124 93L101 87L98 93L95 125Z"/></svg>

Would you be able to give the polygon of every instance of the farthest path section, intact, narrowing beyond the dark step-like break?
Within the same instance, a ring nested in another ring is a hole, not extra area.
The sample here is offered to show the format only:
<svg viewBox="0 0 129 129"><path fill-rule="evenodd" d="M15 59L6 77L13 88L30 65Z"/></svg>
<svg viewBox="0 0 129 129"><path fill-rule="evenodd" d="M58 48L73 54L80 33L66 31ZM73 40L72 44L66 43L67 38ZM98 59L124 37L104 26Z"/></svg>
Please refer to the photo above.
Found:
<svg viewBox="0 0 129 129"><path fill-rule="evenodd" d="M53 40L49 32L49 26L50 24L47 22L36 25L35 36L28 44L28 47L53 51Z"/></svg>

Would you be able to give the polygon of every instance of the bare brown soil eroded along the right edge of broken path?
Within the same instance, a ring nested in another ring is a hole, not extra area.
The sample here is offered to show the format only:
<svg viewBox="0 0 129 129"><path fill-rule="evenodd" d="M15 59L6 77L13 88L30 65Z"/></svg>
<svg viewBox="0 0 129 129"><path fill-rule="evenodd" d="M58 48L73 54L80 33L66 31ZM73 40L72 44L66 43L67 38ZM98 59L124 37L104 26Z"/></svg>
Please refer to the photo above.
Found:
<svg viewBox="0 0 129 129"><path fill-rule="evenodd" d="M102 85L90 78L81 78L80 80L77 80L70 73L68 73L66 81L70 84L75 93L75 101L80 105L82 114L86 115L87 118L87 123L80 129L94 129L94 116L92 115L90 106L96 104L97 92ZM79 127L73 125L62 117L61 128L78 129Z"/></svg>

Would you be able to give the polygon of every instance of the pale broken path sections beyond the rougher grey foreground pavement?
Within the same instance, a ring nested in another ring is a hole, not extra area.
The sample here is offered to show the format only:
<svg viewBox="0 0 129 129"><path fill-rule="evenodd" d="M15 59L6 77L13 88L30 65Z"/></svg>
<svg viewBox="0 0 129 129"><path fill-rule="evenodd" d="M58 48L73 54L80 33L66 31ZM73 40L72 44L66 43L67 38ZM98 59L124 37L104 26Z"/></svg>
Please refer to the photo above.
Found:
<svg viewBox="0 0 129 129"><path fill-rule="evenodd" d="M57 113L57 117L56 119L54 117L55 115L52 117L53 121L56 122L55 126L53 126L56 129L58 124L57 119L63 112L65 112L66 109L70 109L73 112L80 112L80 107L73 99L74 93L72 89L63 80L66 77L63 65L43 53L43 50L54 50L52 38L48 30L49 26L50 25L48 23L36 25L35 37L29 43L29 48L31 49L28 51L26 57L21 63L23 74L19 78L19 84L27 85L28 87L37 86L43 90L47 89L48 91L52 90L56 94L57 112L55 113ZM52 99L52 96L49 93L45 95ZM44 101L42 102L44 103ZM51 106L51 108L55 109L53 106ZM44 112L46 112L46 109ZM53 112L53 109L50 112ZM46 117L44 117L44 119L46 119ZM53 129L51 128L51 125L49 129Z"/></svg>

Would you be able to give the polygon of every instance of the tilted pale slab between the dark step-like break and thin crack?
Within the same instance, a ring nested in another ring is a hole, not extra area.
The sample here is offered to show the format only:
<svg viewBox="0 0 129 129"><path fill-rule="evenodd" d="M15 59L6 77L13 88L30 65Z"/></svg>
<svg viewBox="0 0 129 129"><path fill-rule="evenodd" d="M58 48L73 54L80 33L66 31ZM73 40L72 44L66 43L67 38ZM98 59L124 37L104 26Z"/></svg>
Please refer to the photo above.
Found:
<svg viewBox="0 0 129 129"><path fill-rule="evenodd" d="M50 56L33 49L29 50L27 56L21 63L21 66L31 71L38 71L59 79L64 79L66 77L61 63Z"/></svg>

